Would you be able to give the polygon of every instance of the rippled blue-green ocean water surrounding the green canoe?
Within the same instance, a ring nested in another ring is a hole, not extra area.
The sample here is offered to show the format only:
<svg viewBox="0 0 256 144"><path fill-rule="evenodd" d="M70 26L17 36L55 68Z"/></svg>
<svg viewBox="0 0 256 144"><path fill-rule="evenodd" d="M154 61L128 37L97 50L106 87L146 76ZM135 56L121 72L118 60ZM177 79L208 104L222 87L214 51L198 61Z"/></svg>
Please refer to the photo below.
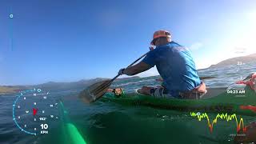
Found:
<svg viewBox="0 0 256 144"><path fill-rule="evenodd" d="M217 78L205 80L208 87L236 86L234 82L246 78L248 74L256 72L256 65L246 64L242 66L229 66L219 69L199 70L201 76L216 76ZM141 86L158 86L156 77L129 79L114 82L112 87L122 87L127 92L138 89ZM240 86L237 86L240 87ZM197 118L190 117L190 111L159 110L146 106L121 106L114 102L95 102L86 105L78 99L80 90L51 91L46 102L54 104L59 100L65 105L70 122L77 127L82 137L89 144L102 143L234 143L236 134L236 122L219 120L214 125L211 133L207 121L198 122ZM18 101L23 108L29 105L33 95L26 95L27 104ZM17 94L0 96L0 143L63 143L66 135L62 130L62 119L50 119L47 121L49 134L37 136L26 134L15 125L13 120L13 104ZM38 105L39 106L39 105ZM32 110L33 106L27 109ZM54 109L56 108L56 109ZM58 106L46 106L43 110L50 116L60 117ZM40 107L41 109L41 107ZM25 110L25 109L24 109ZM40 110L39 110L40 111ZM43 122L33 122L34 116L24 111L17 111L22 118L18 121L21 126L27 125L31 129ZM212 120L216 114L209 114ZM256 122L256 118L238 115L243 118L245 124ZM24 127L24 130L26 130ZM31 129L32 130L32 129Z"/></svg>

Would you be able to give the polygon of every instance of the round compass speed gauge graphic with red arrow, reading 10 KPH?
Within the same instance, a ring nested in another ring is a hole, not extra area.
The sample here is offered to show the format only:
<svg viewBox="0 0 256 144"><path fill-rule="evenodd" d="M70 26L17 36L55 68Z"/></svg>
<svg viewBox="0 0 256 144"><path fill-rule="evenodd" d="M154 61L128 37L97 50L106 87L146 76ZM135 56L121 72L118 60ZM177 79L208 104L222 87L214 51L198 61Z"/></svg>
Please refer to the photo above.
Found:
<svg viewBox="0 0 256 144"><path fill-rule="evenodd" d="M26 134L50 134L53 121L58 121L58 102L49 91L23 90L13 104L13 120Z"/></svg>

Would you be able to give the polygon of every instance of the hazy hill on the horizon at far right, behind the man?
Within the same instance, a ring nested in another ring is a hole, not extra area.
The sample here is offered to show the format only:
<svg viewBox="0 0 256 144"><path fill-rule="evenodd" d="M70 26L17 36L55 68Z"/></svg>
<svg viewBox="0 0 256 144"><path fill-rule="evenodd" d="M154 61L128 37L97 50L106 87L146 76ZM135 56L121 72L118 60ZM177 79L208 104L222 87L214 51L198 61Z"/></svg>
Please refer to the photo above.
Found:
<svg viewBox="0 0 256 144"><path fill-rule="evenodd" d="M229 58L222 62L218 62L216 65L211 65L209 68L218 68L218 67L224 67L224 66L231 66L231 65L237 65L238 62L242 63L249 63L249 62L255 62L256 63L256 54L250 54L242 57L236 57L236 58Z"/></svg>

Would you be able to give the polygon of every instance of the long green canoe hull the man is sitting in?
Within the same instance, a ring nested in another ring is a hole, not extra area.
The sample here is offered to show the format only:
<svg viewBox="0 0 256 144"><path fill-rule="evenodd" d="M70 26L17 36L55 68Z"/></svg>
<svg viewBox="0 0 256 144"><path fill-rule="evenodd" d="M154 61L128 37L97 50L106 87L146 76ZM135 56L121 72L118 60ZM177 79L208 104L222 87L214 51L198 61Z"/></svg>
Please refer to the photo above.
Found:
<svg viewBox="0 0 256 144"><path fill-rule="evenodd" d="M107 93L103 96L102 101L116 102L126 106L256 115L256 92L250 86L246 86L243 90L208 88L207 91L207 94L200 99L154 98L136 92L116 97L113 93Z"/></svg>

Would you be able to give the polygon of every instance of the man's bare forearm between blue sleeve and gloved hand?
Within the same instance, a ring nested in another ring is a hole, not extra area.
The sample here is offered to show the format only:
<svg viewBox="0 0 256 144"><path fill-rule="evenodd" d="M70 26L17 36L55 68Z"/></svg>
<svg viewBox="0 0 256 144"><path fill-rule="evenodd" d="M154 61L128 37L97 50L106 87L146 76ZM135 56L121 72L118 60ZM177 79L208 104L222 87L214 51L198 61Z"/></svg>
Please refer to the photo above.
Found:
<svg viewBox="0 0 256 144"><path fill-rule="evenodd" d="M134 66L130 66L126 70L123 71L123 74L126 75L135 75L139 74L143 71L150 70L151 66L146 64L145 62L139 62L138 64Z"/></svg>

